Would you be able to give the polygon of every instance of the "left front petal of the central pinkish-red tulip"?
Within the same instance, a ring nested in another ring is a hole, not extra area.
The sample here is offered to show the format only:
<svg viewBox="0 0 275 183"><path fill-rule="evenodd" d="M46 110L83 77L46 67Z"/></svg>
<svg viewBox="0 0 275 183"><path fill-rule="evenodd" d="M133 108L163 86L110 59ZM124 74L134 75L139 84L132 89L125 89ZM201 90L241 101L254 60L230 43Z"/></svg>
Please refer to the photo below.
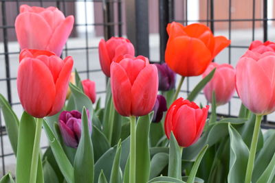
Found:
<svg viewBox="0 0 275 183"><path fill-rule="evenodd" d="M111 64L111 91L115 110L124 117L131 115L131 82L120 64Z"/></svg>

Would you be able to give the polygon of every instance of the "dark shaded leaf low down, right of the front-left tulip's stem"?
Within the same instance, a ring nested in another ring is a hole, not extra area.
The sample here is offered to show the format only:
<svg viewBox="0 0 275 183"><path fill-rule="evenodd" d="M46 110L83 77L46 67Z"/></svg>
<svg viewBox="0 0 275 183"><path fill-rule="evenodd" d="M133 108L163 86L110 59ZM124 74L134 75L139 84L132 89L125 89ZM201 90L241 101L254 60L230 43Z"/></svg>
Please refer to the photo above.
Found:
<svg viewBox="0 0 275 183"><path fill-rule="evenodd" d="M56 159L54 158L54 154L52 154L51 147L47 147L45 153L43 154L42 161L44 162L45 160L47 160L47 163L50 164L50 166L54 170L54 173L56 173L56 177L58 178L58 182L63 182L64 176L62 175L61 170L58 167ZM45 178L44 178L44 180L45 180Z"/></svg>

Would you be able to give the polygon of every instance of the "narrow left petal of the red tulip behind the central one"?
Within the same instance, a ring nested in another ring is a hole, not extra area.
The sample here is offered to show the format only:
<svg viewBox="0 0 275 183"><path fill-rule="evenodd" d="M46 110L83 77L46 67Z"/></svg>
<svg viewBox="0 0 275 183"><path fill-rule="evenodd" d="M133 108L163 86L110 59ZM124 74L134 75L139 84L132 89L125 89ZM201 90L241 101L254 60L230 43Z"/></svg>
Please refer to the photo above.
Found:
<svg viewBox="0 0 275 183"><path fill-rule="evenodd" d="M103 39L100 40L98 45L98 55L103 73L107 75L107 77L110 77L111 58L109 58L106 42Z"/></svg>

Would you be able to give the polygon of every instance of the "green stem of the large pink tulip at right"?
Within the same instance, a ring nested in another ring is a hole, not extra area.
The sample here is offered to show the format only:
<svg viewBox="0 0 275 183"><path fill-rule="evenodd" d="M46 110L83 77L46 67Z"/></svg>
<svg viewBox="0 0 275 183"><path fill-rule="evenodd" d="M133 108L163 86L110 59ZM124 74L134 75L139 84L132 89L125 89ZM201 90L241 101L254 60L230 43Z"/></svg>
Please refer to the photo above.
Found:
<svg viewBox="0 0 275 183"><path fill-rule="evenodd" d="M246 173L245 173L245 183L250 183L252 179L252 171L254 167L254 159L255 159L256 148L258 143L258 136L261 130L261 119L262 119L262 115L256 115L256 122L254 125L254 132L253 132L252 142L250 147L250 155L248 158L248 167L246 168Z"/></svg>

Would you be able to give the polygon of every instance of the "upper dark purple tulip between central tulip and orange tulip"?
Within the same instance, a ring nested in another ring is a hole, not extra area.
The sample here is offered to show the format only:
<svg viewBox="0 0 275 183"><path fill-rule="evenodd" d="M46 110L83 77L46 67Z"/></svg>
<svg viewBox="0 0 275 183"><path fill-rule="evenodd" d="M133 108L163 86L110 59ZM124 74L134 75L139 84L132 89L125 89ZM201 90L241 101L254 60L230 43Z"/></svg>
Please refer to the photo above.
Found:
<svg viewBox="0 0 275 183"><path fill-rule="evenodd" d="M159 75L159 90L167 91L175 88L176 73L172 71L166 63L155 64Z"/></svg>

